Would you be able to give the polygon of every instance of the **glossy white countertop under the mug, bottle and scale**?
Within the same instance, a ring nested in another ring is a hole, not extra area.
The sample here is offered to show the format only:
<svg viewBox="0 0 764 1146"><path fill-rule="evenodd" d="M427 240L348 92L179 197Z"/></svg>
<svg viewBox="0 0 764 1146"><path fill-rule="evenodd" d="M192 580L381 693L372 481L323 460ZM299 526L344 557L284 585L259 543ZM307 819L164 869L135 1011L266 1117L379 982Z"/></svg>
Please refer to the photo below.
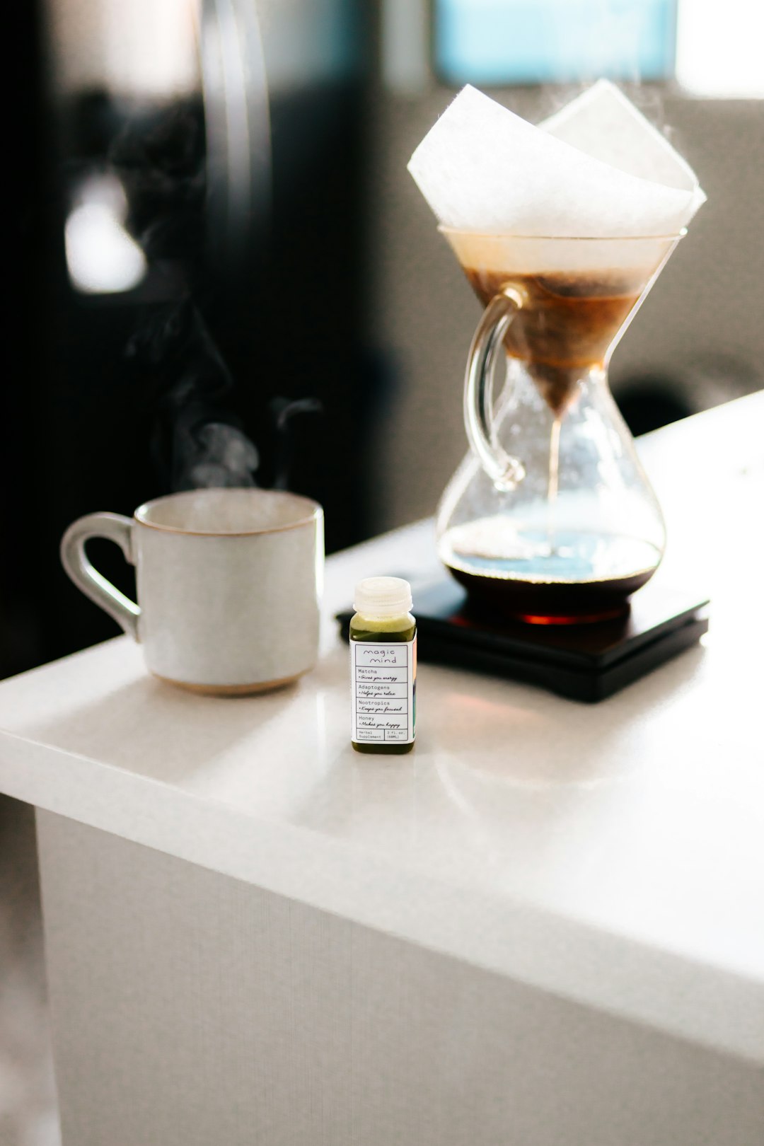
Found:
<svg viewBox="0 0 764 1146"><path fill-rule="evenodd" d="M640 450L711 630L615 697L420 664L415 752L354 753L331 615L376 573L416 607L423 523L329 560L296 688L184 693L127 638L3 682L0 791L764 1063L764 394Z"/></svg>

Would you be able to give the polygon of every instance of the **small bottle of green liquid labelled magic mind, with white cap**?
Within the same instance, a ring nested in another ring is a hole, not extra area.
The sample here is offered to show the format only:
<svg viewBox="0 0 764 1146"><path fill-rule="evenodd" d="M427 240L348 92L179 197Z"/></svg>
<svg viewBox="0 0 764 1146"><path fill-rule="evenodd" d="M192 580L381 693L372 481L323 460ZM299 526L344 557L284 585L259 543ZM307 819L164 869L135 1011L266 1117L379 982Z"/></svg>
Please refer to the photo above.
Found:
<svg viewBox="0 0 764 1146"><path fill-rule="evenodd" d="M351 705L356 752L400 754L413 747L417 622L411 604L411 586L402 578L367 578L355 588Z"/></svg>

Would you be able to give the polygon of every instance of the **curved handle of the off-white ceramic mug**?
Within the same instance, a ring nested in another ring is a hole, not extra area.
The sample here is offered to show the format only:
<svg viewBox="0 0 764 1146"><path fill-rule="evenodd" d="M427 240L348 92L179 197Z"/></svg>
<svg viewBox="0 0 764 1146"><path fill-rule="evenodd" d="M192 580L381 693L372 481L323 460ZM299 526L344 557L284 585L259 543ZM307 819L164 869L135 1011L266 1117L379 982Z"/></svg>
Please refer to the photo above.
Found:
<svg viewBox="0 0 764 1146"><path fill-rule="evenodd" d="M133 521L120 513L88 513L72 521L61 539L61 563L78 589L96 605L105 610L123 627L128 637L140 641L137 621L141 610L120 592L111 581L107 581L87 559L85 544L90 537L107 537L116 541L126 560L133 559Z"/></svg>

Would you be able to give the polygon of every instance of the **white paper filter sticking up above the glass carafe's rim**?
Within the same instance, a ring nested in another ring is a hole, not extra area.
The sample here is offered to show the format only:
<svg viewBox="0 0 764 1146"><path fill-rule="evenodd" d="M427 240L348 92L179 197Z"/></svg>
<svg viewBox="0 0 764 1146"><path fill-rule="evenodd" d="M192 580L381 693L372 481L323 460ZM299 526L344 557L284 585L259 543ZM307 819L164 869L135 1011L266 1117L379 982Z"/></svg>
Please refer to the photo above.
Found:
<svg viewBox="0 0 764 1146"><path fill-rule="evenodd" d="M409 171L441 225L483 235L676 235L706 198L684 159L607 81L539 127L467 86ZM617 245L627 265L639 257L640 244ZM553 252L531 246L552 268Z"/></svg>

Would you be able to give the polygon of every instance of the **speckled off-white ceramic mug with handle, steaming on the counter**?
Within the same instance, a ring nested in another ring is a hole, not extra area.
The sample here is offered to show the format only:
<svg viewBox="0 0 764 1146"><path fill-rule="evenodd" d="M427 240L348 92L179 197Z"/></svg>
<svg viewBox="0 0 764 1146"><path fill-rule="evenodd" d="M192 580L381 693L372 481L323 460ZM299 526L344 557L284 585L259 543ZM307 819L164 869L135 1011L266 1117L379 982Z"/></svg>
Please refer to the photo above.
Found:
<svg viewBox="0 0 764 1146"><path fill-rule="evenodd" d="M116 541L135 565L137 604L85 554ZM323 510L269 489L197 489L147 502L132 518L89 513L61 559L74 584L143 646L149 672L203 692L286 684L318 652Z"/></svg>

